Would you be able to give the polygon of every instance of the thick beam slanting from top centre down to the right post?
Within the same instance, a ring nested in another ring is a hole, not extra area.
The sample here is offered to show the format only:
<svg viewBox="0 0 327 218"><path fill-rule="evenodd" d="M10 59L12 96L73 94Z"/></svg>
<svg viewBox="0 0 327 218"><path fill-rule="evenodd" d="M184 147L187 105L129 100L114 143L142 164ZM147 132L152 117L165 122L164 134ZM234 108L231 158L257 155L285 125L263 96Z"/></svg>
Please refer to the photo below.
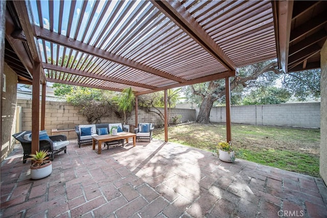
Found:
<svg viewBox="0 0 327 218"><path fill-rule="evenodd" d="M205 51L216 58L228 70L235 70L236 64L224 53L215 40L207 34L195 18L178 1L151 1L162 13L192 37Z"/></svg>

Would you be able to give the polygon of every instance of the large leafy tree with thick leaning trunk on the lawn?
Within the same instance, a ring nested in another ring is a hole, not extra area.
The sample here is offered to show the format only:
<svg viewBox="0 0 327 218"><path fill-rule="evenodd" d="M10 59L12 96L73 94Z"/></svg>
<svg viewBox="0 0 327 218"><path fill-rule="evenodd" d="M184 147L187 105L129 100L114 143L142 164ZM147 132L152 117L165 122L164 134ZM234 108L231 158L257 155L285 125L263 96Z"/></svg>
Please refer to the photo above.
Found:
<svg viewBox="0 0 327 218"><path fill-rule="evenodd" d="M231 103L242 100L244 98L242 95L246 91L249 92L255 89L258 91L259 88L274 86L275 81L281 78L281 74L283 74L283 71L278 69L276 61L261 62L240 68L239 74L234 78L230 78ZM287 90L293 96L300 96L302 99L308 96L315 98L320 96L320 71L308 70L304 73L305 76L302 75L300 72L284 74L284 91ZM214 104L216 102L224 103L225 80L189 86L189 95L186 94L186 96L189 99L201 101L196 121L199 123L209 123L210 111Z"/></svg>

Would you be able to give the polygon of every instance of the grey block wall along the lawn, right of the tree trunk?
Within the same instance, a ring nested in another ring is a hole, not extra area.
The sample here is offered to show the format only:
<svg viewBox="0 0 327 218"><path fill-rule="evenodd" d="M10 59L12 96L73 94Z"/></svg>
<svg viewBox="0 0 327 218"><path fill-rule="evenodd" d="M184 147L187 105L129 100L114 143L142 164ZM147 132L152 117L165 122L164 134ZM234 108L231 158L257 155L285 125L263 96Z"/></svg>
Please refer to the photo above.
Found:
<svg viewBox="0 0 327 218"><path fill-rule="evenodd" d="M320 128L320 103L231 106L231 122L237 124ZM225 107L213 107L211 122L226 122Z"/></svg>

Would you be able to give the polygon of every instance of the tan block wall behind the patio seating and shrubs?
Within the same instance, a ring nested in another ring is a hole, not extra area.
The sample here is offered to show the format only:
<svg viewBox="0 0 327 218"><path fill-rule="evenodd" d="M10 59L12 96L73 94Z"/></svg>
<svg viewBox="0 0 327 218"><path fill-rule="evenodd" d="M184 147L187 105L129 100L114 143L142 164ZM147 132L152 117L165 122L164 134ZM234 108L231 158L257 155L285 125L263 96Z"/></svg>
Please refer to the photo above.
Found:
<svg viewBox="0 0 327 218"><path fill-rule="evenodd" d="M31 100L17 100L17 106L21 106L22 110L22 125L21 131L27 131L32 129L32 101ZM68 129L74 130L75 126L81 124L87 124L85 116L78 113L79 108L69 105L67 102L46 102L45 104L45 130L48 134L52 134L53 129L64 129L54 134L65 134L68 139L76 138L75 131L67 131ZM160 108L160 111L164 113L164 109ZM176 115L182 115L181 121L186 122L188 120L195 120L194 109L171 109L171 122L172 117ZM101 123L122 123L122 120L111 114L109 117L103 117ZM135 125L135 112L133 111L128 124L131 125L130 129ZM160 118L155 113L146 113L143 110L138 110L138 123L153 123L158 125Z"/></svg>

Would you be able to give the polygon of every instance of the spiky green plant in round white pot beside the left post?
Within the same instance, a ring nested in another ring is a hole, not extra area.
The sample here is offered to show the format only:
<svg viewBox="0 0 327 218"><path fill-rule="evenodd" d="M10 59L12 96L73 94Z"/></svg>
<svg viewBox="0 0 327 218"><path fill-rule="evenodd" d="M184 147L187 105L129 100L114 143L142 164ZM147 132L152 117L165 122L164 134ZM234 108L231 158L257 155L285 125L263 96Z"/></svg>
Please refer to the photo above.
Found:
<svg viewBox="0 0 327 218"><path fill-rule="evenodd" d="M42 179L49 176L52 173L52 162L47 157L48 152L46 151L36 151L35 154L30 154L28 160L32 161L31 165L31 178L32 179Z"/></svg>

